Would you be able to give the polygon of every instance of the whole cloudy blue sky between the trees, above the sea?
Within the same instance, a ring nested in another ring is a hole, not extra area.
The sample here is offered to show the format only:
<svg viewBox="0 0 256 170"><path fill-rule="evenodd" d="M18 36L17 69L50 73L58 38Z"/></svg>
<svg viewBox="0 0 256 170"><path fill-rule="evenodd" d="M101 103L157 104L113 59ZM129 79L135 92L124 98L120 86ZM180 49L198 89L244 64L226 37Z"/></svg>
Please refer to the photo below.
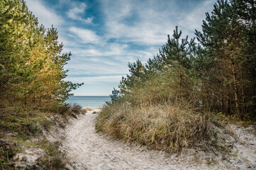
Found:
<svg viewBox="0 0 256 170"><path fill-rule="evenodd" d="M59 31L72 52L67 80L82 83L75 96L108 96L128 74L128 62L145 63L179 26L194 37L216 0L26 0L40 24Z"/></svg>

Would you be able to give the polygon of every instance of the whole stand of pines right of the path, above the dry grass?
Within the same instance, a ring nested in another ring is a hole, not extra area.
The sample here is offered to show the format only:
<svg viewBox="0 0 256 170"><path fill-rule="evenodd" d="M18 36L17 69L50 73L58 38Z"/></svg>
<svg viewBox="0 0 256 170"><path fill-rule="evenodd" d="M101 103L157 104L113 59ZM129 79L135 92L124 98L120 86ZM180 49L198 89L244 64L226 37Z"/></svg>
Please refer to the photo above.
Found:
<svg viewBox="0 0 256 170"><path fill-rule="evenodd" d="M189 103L196 111L256 118L255 1L217 1L202 32L172 38L144 65L129 63L121 102L134 106Z"/></svg>

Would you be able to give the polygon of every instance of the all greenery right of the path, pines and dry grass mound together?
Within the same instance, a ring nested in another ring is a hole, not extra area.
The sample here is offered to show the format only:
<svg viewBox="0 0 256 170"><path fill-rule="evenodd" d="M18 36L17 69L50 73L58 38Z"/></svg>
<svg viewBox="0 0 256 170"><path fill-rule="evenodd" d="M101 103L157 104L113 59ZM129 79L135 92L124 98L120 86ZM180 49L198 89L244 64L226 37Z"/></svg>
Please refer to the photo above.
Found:
<svg viewBox="0 0 256 170"><path fill-rule="evenodd" d="M255 119L255 8L255 1L217 1L196 30L199 44L176 27L146 64L129 63L119 100L104 106L96 130L169 152L217 135L211 123ZM208 112L216 113L211 123Z"/></svg>

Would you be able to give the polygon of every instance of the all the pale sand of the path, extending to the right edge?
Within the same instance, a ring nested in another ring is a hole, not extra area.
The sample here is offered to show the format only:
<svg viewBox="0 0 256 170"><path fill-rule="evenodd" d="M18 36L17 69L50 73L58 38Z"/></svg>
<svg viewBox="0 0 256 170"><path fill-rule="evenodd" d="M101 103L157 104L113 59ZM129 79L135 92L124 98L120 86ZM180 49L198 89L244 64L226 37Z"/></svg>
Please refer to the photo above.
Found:
<svg viewBox="0 0 256 170"><path fill-rule="evenodd" d="M79 115L78 120L73 119L72 125L66 129L66 137L62 145L67 150L69 169L247 169L250 165L252 166L248 169L254 169L255 140L253 144L248 144L250 147L246 147L252 156L243 152L250 157L249 162L244 160L235 162L237 158L223 159L220 155L205 154L195 149L189 149L186 153L177 156L177 154L148 150L145 147L129 146L96 133L94 120L97 113L93 114L94 111ZM237 157L239 156L238 152ZM236 166L237 164L239 166Z"/></svg>

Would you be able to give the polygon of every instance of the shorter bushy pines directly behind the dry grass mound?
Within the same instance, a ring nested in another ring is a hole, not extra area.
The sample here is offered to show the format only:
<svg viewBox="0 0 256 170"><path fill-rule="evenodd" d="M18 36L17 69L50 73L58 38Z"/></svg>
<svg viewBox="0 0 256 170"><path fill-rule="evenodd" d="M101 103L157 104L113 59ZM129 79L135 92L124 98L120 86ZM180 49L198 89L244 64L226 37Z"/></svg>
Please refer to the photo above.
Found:
<svg viewBox="0 0 256 170"><path fill-rule="evenodd" d="M152 105L166 101L192 100L199 93L199 73L196 72L196 49L200 47L194 38L180 39L182 31L168 35L166 45L145 66L137 60L128 64L130 75L123 77L119 85L121 100L135 105Z"/></svg>

